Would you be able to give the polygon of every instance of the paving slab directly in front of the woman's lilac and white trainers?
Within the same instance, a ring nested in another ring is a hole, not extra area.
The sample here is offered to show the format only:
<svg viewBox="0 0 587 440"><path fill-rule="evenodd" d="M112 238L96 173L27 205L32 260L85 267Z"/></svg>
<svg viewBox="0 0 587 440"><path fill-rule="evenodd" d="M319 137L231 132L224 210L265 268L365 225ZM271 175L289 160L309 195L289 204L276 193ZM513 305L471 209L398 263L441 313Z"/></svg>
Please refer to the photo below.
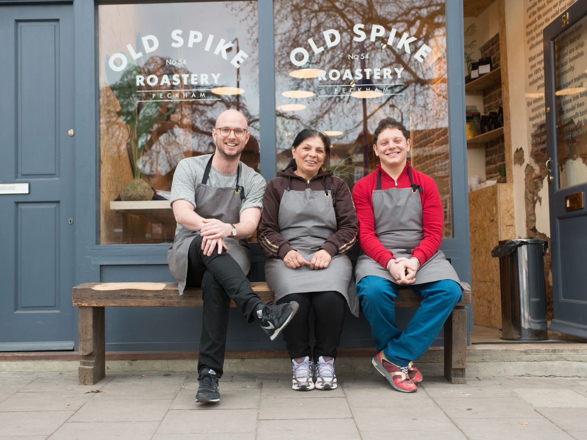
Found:
<svg viewBox="0 0 587 440"><path fill-rule="evenodd" d="M313 391L310 391L313 392ZM296 419L341 419L351 418L349 405L343 397L317 399L267 398L261 399L259 420Z"/></svg>

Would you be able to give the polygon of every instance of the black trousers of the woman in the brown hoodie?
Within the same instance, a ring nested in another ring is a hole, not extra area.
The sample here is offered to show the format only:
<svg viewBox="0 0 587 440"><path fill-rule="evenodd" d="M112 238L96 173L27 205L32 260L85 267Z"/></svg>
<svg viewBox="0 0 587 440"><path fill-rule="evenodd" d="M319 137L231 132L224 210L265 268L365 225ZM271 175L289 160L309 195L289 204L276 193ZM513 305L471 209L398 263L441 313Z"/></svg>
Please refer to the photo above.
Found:
<svg viewBox="0 0 587 440"><path fill-rule="evenodd" d="M305 292L290 293L277 303L297 301L298 313L295 314L283 330L285 345L292 359L309 356L310 348L310 309L314 311L314 334L316 344L313 349L313 360L318 362L320 356L336 358L336 348L340 343L342 324L345 321L346 299L339 292Z"/></svg>

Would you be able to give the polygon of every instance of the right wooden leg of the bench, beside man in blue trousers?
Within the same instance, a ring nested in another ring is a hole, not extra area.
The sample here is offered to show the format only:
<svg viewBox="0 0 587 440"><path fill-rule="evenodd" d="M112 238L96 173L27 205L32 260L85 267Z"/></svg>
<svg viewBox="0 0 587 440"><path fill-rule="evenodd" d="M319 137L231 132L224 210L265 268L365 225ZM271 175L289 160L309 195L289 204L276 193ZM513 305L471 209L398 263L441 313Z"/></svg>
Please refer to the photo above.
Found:
<svg viewBox="0 0 587 440"><path fill-rule="evenodd" d="M467 310L456 307L444 323L444 377L451 384L466 384Z"/></svg>

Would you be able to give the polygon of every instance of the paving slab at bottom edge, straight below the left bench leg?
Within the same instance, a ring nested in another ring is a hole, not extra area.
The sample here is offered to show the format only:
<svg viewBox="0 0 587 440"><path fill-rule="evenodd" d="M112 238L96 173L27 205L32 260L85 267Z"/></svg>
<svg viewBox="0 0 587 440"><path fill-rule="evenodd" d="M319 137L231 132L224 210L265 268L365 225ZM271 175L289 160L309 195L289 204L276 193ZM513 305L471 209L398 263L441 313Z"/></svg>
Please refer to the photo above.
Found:
<svg viewBox="0 0 587 440"><path fill-rule="evenodd" d="M159 422L68 422L50 440L149 440ZM2 439L4 440L4 439Z"/></svg>

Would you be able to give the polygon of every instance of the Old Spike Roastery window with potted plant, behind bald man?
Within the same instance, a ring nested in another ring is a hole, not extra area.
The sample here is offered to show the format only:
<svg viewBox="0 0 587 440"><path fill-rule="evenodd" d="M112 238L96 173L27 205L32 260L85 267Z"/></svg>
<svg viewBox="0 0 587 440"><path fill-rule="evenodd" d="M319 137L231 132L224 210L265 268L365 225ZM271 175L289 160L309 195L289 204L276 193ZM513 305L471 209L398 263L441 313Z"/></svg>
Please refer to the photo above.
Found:
<svg viewBox="0 0 587 440"><path fill-rule="evenodd" d="M171 242L173 173L214 152L221 111L247 117L241 160L259 170L257 2L107 4L98 19L100 243Z"/></svg>

